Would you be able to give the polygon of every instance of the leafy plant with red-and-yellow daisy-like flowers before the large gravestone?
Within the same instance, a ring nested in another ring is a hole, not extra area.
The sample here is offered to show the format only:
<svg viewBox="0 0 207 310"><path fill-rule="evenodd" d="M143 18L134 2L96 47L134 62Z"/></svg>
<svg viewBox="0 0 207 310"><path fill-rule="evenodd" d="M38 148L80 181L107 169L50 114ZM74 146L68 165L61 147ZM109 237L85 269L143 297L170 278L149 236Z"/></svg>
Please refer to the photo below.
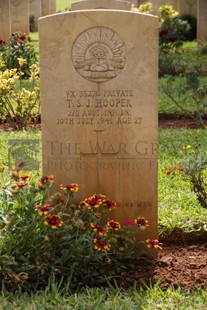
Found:
<svg viewBox="0 0 207 310"><path fill-rule="evenodd" d="M119 273L126 259L139 257L133 233L146 229L147 220L110 220L116 203L101 194L77 203L77 184L50 194L54 178L35 181L21 173L23 165L12 169L10 180L1 167L0 278L8 289L40 289L50 278L76 288L98 285ZM146 246L160 247L157 240Z"/></svg>

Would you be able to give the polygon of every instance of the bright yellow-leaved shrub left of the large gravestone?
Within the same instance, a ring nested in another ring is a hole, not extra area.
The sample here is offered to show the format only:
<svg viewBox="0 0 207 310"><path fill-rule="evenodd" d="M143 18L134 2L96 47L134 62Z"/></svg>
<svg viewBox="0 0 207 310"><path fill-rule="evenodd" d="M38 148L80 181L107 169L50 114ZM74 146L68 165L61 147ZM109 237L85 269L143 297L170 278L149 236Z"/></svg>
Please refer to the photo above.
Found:
<svg viewBox="0 0 207 310"><path fill-rule="evenodd" d="M18 58L19 67L23 68L26 59ZM39 68L33 64L29 68L29 80L23 80L24 70L6 69L0 61L0 112L1 120L10 123L13 129L23 129L31 118L39 114Z"/></svg>

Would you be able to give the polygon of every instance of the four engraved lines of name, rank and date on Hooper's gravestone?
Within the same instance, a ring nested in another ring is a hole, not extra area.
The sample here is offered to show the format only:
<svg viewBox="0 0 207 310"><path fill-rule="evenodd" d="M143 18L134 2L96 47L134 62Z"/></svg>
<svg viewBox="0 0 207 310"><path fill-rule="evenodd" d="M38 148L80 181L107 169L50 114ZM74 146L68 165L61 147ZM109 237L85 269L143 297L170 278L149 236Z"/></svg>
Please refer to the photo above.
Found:
<svg viewBox="0 0 207 310"><path fill-rule="evenodd" d="M132 113L132 89L67 90L66 110L56 118L57 125L142 125L141 115Z"/></svg>

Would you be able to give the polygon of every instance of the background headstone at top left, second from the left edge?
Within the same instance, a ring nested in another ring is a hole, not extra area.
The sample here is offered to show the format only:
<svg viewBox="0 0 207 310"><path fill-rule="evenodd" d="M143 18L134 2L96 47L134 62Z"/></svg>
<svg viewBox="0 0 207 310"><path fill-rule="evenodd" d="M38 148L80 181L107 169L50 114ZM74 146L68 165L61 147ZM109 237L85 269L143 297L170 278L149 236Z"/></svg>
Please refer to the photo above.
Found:
<svg viewBox="0 0 207 310"><path fill-rule="evenodd" d="M29 0L10 0L11 32L29 33Z"/></svg>

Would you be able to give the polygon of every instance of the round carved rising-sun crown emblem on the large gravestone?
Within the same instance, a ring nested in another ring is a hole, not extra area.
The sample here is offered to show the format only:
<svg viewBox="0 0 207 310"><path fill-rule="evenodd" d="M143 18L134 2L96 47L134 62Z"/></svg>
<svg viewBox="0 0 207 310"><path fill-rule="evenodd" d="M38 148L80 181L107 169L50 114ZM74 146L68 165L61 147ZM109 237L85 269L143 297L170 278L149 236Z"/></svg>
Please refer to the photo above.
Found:
<svg viewBox="0 0 207 310"><path fill-rule="evenodd" d="M83 78L96 83L105 82L115 78L124 68L125 46L112 29L90 28L75 40L72 61Z"/></svg>

